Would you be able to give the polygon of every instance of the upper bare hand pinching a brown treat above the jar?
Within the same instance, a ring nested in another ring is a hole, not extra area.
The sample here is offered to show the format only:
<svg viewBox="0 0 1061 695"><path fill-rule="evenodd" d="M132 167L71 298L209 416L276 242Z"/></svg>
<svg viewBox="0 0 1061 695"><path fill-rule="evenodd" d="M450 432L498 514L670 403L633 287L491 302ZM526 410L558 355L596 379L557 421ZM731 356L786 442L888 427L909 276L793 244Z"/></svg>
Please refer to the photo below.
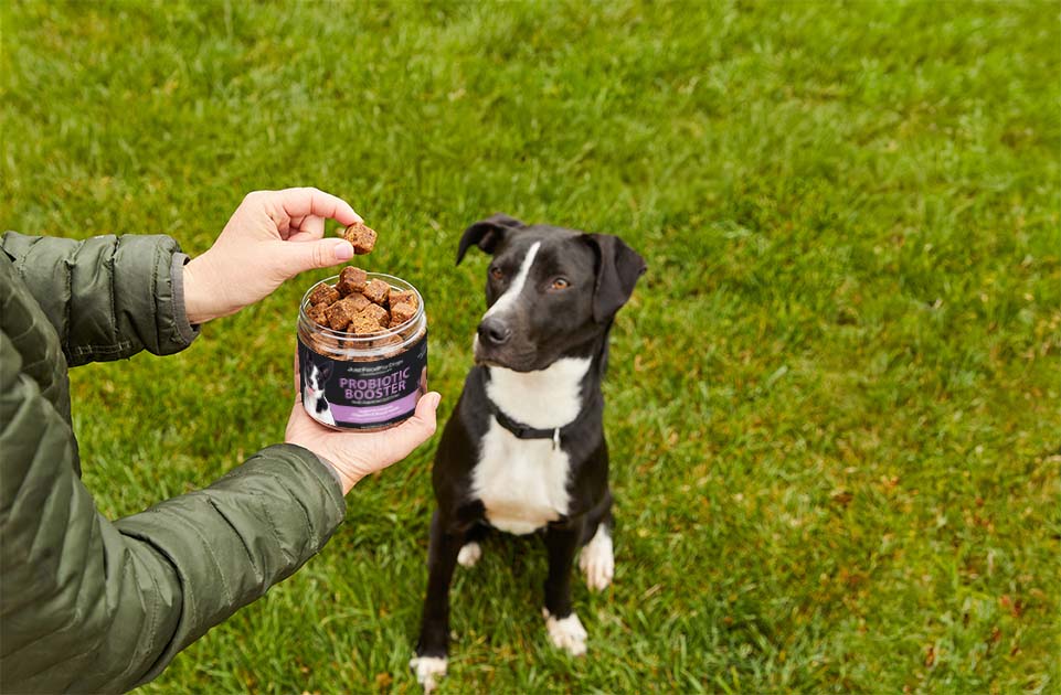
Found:
<svg viewBox="0 0 1061 695"><path fill-rule="evenodd" d="M325 239L325 220L362 222L350 204L317 189L248 193L210 250L184 266L192 324L235 313L284 280L353 257L346 239Z"/></svg>

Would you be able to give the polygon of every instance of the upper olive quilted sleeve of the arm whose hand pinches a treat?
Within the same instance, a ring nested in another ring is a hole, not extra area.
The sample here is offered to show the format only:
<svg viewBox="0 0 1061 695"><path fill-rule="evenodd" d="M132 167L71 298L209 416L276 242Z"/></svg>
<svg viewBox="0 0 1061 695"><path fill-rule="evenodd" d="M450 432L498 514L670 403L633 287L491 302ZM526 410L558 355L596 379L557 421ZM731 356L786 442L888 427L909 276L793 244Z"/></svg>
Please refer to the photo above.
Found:
<svg viewBox="0 0 1061 695"><path fill-rule="evenodd" d="M199 333L184 316L180 268L188 256L168 236L77 240L7 232L2 246L55 328L71 366L141 350L172 354Z"/></svg>

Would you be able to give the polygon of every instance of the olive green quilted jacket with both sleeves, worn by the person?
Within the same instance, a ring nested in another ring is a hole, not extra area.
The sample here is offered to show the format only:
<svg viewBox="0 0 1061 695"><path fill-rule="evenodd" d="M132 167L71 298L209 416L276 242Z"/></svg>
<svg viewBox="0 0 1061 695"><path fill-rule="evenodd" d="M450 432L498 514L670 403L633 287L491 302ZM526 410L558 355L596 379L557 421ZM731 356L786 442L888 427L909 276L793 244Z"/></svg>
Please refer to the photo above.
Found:
<svg viewBox="0 0 1061 695"><path fill-rule="evenodd" d="M127 691L317 553L342 492L316 456L279 445L104 517L81 481L67 367L187 348L187 256L166 236L13 232L2 252L0 693Z"/></svg>

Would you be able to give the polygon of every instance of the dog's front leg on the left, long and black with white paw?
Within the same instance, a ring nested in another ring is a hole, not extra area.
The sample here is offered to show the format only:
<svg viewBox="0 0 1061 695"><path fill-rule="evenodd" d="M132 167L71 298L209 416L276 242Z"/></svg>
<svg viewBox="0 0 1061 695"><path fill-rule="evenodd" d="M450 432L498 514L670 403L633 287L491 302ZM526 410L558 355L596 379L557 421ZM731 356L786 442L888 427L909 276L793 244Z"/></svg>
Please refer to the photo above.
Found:
<svg viewBox="0 0 1061 695"><path fill-rule="evenodd" d="M446 675L449 653L449 582L457 565L457 554L464 545L464 533L446 528L438 510L431 520L431 542L427 546L427 597L421 621L416 656L409 662L416 680L429 693Z"/></svg>

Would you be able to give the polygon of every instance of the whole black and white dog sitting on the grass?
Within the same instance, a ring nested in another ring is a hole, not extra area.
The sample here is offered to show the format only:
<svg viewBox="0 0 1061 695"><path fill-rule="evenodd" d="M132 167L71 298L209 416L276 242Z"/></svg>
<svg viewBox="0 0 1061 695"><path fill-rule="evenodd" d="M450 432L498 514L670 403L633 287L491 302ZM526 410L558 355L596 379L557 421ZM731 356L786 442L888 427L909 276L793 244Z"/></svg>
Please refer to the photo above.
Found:
<svg viewBox="0 0 1061 695"><path fill-rule="evenodd" d="M571 569L591 589L612 581L612 493L601 381L608 331L645 261L622 239L494 215L464 233L494 255L488 310L435 455L427 597L410 666L431 691L446 673L449 584L457 563L481 556L490 528L544 530L549 576L542 614L549 638L571 654L586 631L571 607Z"/></svg>

